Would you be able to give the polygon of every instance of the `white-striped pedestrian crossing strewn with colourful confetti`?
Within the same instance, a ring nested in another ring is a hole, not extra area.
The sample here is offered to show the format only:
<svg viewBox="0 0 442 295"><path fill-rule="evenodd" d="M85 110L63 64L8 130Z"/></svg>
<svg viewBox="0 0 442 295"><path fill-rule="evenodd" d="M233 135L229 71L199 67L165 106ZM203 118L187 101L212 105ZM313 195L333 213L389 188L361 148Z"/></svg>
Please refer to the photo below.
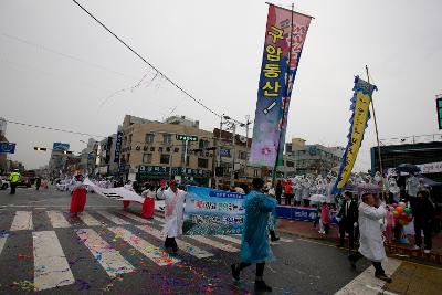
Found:
<svg viewBox="0 0 442 295"><path fill-rule="evenodd" d="M76 236L78 247L84 249L90 260L96 262L96 267L109 278L134 273L139 267L127 256L127 252L125 254L119 250L122 243L130 253L159 267L173 267L190 257L204 260L223 252L238 253L241 244L239 235L180 236L176 239L179 254L170 255L162 247L165 236L161 228L165 219L156 214L152 220L146 220L128 211L94 210L82 212L78 218L71 218L69 212L57 210L15 211L11 212L9 221L4 220L4 215L1 218L0 259L6 254L3 250L8 249L9 243L17 243L23 236L32 239L32 255L29 256L34 267L34 291L75 284L75 272L71 270L69 257L73 254L66 252L66 244L72 241L61 239L66 232L71 232L70 239ZM10 254L10 251L7 252ZM0 278L1 283L6 282Z"/></svg>

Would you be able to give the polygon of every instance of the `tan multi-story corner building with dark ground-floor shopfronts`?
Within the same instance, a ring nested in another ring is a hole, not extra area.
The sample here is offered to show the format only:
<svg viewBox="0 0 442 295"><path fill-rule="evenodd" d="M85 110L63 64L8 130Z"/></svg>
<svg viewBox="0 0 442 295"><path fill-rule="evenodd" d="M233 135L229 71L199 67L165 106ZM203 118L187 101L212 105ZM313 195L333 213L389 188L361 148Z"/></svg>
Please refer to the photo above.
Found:
<svg viewBox="0 0 442 295"><path fill-rule="evenodd" d="M212 133L179 120L169 122L172 124L125 116L120 171L138 181L173 178L183 183L211 185L214 152L206 148L213 147ZM179 140L177 136L190 136L197 141Z"/></svg>

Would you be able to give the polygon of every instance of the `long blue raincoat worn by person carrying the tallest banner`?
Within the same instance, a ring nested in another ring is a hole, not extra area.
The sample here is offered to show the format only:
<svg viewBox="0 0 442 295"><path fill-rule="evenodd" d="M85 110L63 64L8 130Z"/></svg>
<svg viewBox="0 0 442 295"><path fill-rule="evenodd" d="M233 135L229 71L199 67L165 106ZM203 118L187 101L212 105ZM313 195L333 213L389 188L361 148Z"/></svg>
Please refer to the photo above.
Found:
<svg viewBox="0 0 442 295"><path fill-rule="evenodd" d="M274 261L269 243L269 213L274 213L276 200L259 191L245 196L245 220L242 232L240 261L261 263Z"/></svg>

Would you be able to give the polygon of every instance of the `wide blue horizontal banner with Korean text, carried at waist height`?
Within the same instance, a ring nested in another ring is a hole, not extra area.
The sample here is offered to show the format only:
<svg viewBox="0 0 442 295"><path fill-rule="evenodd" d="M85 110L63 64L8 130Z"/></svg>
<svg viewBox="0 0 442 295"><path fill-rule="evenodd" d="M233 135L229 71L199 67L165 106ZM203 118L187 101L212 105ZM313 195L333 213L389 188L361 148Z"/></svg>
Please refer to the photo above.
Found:
<svg viewBox="0 0 442 295"><path fill-rule="evenodd" d="M189 186L182 232L187 235L241 233L245 213L244 196Z"/></svg>

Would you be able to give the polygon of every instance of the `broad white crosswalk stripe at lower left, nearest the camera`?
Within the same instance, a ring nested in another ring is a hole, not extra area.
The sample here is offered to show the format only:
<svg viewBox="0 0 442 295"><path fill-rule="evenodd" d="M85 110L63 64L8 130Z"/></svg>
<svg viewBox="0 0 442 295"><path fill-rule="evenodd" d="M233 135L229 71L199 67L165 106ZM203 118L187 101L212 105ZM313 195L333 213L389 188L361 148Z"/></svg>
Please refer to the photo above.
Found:
<svg viewBox="0 0 442 295"><path fill-rule="evenodd" d="M75 283L54 231L33 232L34 289L43 291Z"/></svg>

